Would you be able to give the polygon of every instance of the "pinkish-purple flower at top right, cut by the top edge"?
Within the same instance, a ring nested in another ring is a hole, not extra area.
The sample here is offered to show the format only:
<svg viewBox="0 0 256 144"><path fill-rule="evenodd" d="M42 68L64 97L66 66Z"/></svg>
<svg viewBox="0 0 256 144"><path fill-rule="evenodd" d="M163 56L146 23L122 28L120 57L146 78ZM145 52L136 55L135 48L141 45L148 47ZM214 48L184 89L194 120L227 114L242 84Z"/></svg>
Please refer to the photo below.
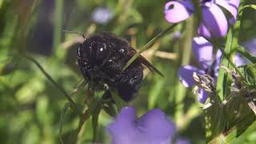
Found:
<svg viewBox="0 0 256 144"><path fill-rule="evenodd" d="M230 24L234 24L240 0L199 0L202 8L202 22L198 28L198 34L210 38L222 38L228 30L228 21L221 8L226 9L232 15L229 18ZM191 0L174 0L167 2L165 14L167 22L177 23L186 20L195 12Z"/></svg>

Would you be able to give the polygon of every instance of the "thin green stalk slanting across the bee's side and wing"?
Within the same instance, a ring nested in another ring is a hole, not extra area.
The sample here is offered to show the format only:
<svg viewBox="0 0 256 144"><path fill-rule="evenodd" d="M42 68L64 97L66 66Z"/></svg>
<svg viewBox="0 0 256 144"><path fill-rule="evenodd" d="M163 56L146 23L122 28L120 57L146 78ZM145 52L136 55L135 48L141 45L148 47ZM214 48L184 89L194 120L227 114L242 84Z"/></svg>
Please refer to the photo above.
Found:
<svg viewBox="0 0 256 144"><path fill-rule="evenodd" d="M166 30L162 31L162 33L158 34L157 36L155 36L154 38L152 38L150 40L150 42L147 42L146 45L142 46L142 48L140 48L138 50L138 52L136 54L134 54L134 56L132 58L130 58L130 60L126 63L126 65L122 68L122 70L126 70L130 64L132 62L135 61L136 58L138 58L140 56L140 54L142 54L143 51L145 51L146 49L148 49L155 41L157 41L159 38L162 38L162 36L164 34L166 34L169 30L173 30L176 26L178 26L178 24L174 24L171 25L170 27L168 27Z"/></svg>

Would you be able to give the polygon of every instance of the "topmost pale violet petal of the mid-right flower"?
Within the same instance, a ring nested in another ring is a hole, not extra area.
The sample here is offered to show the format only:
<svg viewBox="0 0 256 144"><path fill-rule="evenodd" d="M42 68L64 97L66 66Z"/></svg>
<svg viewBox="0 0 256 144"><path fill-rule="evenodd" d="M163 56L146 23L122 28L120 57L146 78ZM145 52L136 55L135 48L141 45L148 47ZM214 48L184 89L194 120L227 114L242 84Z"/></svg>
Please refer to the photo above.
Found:
<svg viewBox="0 0 256 144"><path fill-rule="evenodd" d="M211 65L213 57L213 45L203 37L195 37L192 41L192 50L195 58L202 66L203 69L207 69Z"/></svg>

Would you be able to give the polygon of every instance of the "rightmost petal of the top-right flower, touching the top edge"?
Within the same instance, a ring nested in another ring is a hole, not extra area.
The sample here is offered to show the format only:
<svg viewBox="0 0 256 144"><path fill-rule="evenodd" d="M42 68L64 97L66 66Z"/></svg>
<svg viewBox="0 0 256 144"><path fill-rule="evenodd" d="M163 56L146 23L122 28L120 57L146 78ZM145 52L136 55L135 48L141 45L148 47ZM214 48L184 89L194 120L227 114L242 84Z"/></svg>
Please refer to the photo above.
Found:
<svg viewBox="0 0 256 144"><path fill-rule="evenodd" d="M232 18L230 18L229 22L230 24L234 25L238 15L238 6L240 4L240 0L215 0L215 2L232 14Z"/></svg>

